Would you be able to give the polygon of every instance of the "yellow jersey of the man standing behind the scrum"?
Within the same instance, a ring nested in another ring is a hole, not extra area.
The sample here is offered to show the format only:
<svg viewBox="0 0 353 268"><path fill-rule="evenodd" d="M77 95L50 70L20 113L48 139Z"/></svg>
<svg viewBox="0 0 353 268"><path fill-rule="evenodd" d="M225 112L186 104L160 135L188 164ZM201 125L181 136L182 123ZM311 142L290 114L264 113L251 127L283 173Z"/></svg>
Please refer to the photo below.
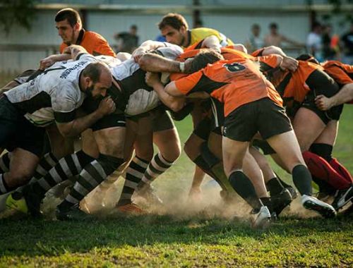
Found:
<svg viewBox="0 0 353 268"><path fill-rule="evenodd" d="M200 42L201 40L209 37L211 35L215 35L220 40L220 44L222 47L227 47L229 45L234 44L231 39L227 38L221 32L211 28L195 28L191 29L188 32L189 35L189 44L186 47L190 47L193 44Z"/></svg>

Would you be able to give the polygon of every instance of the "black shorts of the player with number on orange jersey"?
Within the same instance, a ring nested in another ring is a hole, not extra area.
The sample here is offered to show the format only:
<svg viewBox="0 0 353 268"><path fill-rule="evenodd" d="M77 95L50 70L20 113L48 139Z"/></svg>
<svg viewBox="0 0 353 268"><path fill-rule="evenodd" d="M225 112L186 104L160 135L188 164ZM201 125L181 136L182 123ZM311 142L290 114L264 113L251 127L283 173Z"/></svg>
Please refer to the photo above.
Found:
<svg viewBox="0 0 353 268"><path fill-rule="evenodd" d="M269 98L244 104L225 118L223 135L239 142L250 142L259 131L263 139L292 130L285 109Z"/></svg>

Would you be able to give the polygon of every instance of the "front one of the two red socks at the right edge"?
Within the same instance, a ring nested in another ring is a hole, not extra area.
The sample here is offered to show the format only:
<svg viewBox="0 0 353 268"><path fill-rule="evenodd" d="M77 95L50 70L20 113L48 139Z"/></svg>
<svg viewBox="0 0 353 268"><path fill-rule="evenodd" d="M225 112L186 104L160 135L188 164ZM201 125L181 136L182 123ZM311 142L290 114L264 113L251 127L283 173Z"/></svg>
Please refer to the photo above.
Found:
<svg viewBox="0 0 353 268"><path fill-rule="evenodd" d="M303 157L310 173L326 181L335 189L342 190L349 188L351 185L351 183L340 175L340 173L337 173L323 157L319 157L317 154L313 154L309 151L304 152Z"/></svg>

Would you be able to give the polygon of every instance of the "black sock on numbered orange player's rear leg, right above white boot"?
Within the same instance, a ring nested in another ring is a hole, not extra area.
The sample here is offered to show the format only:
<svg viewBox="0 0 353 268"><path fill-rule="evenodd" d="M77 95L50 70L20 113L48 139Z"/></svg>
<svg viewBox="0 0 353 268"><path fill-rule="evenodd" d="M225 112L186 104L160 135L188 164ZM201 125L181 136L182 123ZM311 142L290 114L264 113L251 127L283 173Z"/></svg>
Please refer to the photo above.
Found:
<svg viewBox="0 0 353 268"><path fill-rule="evenodd" d="M311 188L311 174L309 169L299 164L294 166L292 170L292 177L295 187L299 190L301 195L312 195L312 188Z"/></svg>

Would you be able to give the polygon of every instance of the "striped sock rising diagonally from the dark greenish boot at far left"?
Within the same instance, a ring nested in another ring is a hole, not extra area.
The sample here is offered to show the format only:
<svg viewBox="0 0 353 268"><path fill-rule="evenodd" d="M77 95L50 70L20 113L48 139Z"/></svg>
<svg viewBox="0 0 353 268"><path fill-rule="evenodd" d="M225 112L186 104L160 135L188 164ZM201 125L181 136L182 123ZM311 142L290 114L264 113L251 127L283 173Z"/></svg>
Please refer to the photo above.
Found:
<svg viewBox="0 0 353 268"><path fill-rule="evenodd" d="M32 184L32 189L37 195L44 197L45 193L56 184L78 175L82 171L83 166L90 163L92 160L94 160L94 158L85 154L83 151L61 158L44 177Z"/></svg>

